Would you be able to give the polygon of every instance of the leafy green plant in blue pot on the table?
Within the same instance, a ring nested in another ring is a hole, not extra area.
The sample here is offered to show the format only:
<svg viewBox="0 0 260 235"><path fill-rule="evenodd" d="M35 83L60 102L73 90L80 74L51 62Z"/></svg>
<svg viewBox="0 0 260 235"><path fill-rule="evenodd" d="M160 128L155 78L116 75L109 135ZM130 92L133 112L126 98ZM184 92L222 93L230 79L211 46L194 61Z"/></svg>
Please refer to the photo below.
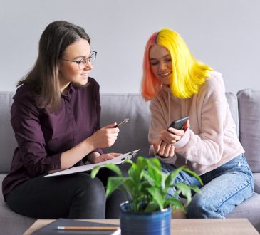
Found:
<svg viewBox="0 0 260 235"><path fill-rule="evenodd" d="M181 209L185 212L184 207L192 200L192 191L200 193L199 187L175 184L175 177L182 170L192 174L201 184L202 180L185 166L165 174L157 158L137 157L136 163L132 160L126 162L131 164L128 177L123 176L118 165L103 165L118 174L108 178L106 197L115 189L124 190L128 194L129 201L120 205L121 234L170 234L172 210ZM91 177L94 178L99 169L100 166L94 167ZM176 197L182 194L187 199L184 205L175 197L167 197L171 187L175 187Z"/></svg>

